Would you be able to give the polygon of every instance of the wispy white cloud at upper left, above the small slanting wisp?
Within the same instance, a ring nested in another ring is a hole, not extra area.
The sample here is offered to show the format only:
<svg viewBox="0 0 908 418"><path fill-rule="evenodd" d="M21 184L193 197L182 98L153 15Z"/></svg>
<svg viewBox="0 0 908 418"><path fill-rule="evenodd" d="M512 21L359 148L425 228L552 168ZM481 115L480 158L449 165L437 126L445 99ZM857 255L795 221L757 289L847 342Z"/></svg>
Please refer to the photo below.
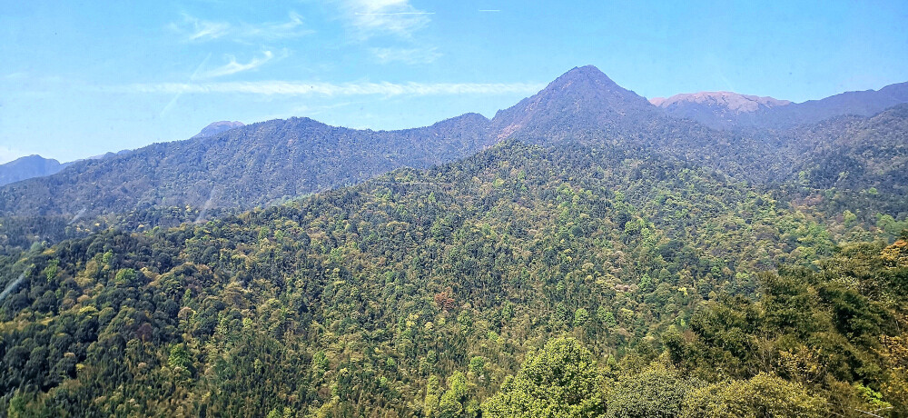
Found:
<svg viewBox="0 0 908 418"><path fill-rule="evenodd" d="M286 22L259 24L214 22L183 14L180 22L171 23L168 27L190 42L205 42L219 38L229 38L234 42L250 42L252 40L299 37L313 32L303 25L302 16L295 12L290 13Z"/></svg>

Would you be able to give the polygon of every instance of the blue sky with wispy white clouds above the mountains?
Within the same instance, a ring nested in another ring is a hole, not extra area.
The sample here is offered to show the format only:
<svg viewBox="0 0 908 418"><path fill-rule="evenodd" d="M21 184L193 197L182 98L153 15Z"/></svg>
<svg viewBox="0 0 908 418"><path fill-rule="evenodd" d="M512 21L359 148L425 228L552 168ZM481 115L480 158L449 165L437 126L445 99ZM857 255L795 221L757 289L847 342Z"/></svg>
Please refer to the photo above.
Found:
<svg viewBox="0 0 908 418"><path fill-rule="evenodd" d="M218 120L491 117L587 64L646 97L801 102L908 81L903 0L256 3L5 2L0 163L180 140Z"/></svg>

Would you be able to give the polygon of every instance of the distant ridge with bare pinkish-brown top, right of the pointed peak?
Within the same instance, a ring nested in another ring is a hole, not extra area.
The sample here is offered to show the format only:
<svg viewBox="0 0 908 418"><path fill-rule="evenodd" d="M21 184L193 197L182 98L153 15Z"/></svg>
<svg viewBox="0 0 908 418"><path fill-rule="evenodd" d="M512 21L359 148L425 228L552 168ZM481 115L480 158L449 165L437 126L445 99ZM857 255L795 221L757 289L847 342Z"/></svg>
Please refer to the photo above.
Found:
<svg viewBox="0 0 908 418"><path fill-rule="evenodd" d="M729 92L656 97L650 103L665 109L666 114L715 129L786 129L845 114L871 116L893 105L908 103L908 83L887 85L880 90L847 92L804 103Z"/></svg>

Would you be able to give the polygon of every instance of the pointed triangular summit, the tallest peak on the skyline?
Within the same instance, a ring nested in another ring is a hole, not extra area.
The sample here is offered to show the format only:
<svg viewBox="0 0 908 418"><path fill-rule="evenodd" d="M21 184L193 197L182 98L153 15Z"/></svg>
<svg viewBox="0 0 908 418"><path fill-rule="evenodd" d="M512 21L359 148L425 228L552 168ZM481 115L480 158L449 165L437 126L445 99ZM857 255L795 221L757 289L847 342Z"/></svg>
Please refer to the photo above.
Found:
<svg viewBox="0 0 908 418"><path fill-rule="evenodd" d="M548 142L592 131L624 131L659 114L645 98L617 85L593 65L576 67L538 94L498 112L498 139L510 136Z"/></svg>

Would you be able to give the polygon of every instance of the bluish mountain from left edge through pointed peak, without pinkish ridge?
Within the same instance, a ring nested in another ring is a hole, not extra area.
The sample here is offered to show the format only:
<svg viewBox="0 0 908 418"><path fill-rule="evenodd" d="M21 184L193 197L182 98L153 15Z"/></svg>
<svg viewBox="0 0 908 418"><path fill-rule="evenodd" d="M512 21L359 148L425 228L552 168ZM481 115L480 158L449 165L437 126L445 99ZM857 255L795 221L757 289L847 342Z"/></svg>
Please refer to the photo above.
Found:
<svg viewBox="0 0 908 418"><path fill-rule="evenodd" d="M645 98L585 66L502 110L390 132L331 127L309 119L270 121L210 137L153 144L67 174L0 188L0 215L122 213L151 207L240 207L362 181L403 166L428 166L508 137L531 144L580 140L642 147L741 174L735 160L763 146L666 117ZM725 153L732 146L743 153ZM725 157L728 155L729 157ZM745 162L756 167L765 164Z"/></svg>

